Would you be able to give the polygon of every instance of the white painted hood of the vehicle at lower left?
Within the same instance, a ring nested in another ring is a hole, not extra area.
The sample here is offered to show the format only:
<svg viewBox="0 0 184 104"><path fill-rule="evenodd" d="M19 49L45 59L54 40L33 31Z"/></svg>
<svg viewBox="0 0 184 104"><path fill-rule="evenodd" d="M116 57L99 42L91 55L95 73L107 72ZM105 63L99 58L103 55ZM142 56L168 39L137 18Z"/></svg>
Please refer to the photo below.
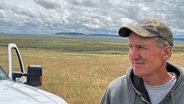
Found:
<svg viewBox="0 0 184 104"><path fill-rule="evenodd" d="M67 104L54 94L10 80L0 80L0 93L0 104Z"/></svg>

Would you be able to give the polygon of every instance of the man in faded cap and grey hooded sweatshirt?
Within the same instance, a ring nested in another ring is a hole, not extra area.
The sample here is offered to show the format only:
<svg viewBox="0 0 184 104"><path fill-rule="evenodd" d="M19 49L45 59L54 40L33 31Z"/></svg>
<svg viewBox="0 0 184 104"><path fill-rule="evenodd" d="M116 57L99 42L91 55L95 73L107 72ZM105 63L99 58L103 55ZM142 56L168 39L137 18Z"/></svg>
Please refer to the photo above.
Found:
<svg viewBox="0 0 184 104"><path fill-rule="evenodd" d="M101 104L183 104L184 68L167 62L173 48L169 27L144 19L120 28L119 35L129 37L132 66L111 82Z"/></svg>

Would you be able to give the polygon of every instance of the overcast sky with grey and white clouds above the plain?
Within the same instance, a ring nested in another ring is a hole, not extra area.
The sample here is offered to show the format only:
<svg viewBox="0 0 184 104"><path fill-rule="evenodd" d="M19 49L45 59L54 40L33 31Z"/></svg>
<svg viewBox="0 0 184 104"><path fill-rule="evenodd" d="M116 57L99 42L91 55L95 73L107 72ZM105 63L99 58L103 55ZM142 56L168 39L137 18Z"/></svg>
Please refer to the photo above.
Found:
<svg viewBox="0 0 184 104"><path fill-rule="evenodd" d="M160 19L184 33L184 0L1 0L0 33L117 34L121 26Z"/></svg>

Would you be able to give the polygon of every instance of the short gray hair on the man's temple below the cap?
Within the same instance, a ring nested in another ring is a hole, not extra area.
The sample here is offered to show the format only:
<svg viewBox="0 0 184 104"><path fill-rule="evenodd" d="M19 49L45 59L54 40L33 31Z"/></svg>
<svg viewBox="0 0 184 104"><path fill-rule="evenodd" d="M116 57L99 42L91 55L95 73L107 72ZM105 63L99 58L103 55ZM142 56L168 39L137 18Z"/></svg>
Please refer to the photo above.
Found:
<svg viewBox="0 0 184 104"><path fill-rule="evenodd" d="M170 45L169 42L165 39L162 39L160 37L156 37L156 42L157 42L157 46L160 47L160 48L163 48L165 46L168 46Z"/></svg>

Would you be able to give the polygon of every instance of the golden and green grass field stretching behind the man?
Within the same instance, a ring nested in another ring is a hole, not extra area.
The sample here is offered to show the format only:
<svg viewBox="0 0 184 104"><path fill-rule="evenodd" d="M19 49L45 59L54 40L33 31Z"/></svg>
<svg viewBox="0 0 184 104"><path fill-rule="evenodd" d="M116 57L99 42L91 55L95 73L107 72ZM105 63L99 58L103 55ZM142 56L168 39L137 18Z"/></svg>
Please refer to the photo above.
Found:
<svg viewBox="0 0 184 104"><path fill-rule="evenodd" d="M126 40L104 37L0 35L0 62L7 69L7 44L16 43L24 64L43 67L41 89L69 104L98 104L108 84L130 66ZM176 43L175 64L184 66L184 43Z"/></svg>

